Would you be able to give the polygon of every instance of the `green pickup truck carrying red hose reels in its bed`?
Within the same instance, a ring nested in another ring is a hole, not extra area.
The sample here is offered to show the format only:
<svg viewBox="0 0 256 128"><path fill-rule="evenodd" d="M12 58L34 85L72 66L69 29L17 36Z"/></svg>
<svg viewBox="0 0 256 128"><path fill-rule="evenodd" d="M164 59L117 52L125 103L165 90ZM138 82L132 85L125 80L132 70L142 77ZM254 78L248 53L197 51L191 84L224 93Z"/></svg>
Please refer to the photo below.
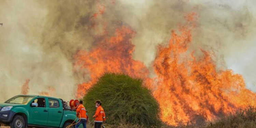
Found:
<svg viewBox="0 0 256 128"><path fill-rule="evenodd" d="M63 105L63 100L58 98L18 95L0 103L0 126L66 128L78 119L75 120L74 110L65 109Z"/></svg>

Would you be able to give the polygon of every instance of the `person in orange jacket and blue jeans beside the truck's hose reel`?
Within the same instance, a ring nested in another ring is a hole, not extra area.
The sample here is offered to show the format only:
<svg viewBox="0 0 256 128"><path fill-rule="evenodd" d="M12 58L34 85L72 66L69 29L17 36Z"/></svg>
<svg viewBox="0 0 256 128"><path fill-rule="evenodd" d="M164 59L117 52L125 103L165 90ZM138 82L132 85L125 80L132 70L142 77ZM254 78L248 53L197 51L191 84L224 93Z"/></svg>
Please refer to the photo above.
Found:
<svg viewBox="0 0 256 128"><path fill-rule="evenodd" d="M75 125L75 128L78 128L81 124L83 124L83 127L86 128L86 122L88 118L82 100L79 101L79 106L76 110L76 116L80 118L80 122Z"/></svg>

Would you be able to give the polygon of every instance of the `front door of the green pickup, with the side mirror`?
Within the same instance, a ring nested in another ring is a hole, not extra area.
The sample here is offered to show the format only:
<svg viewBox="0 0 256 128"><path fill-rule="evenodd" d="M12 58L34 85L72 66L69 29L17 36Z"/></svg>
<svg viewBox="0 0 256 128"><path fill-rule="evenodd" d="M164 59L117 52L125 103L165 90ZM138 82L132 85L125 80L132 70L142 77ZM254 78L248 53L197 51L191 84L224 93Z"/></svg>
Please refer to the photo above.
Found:
<svg viewBox="0 0 256 128"><path fill-rule="evenodd" d="M30 104L30 124L33 125L46 125L48 118L48 108L45 107L45 98L37 98L32 103L38 103L38 106L32 107Z"/></svg>

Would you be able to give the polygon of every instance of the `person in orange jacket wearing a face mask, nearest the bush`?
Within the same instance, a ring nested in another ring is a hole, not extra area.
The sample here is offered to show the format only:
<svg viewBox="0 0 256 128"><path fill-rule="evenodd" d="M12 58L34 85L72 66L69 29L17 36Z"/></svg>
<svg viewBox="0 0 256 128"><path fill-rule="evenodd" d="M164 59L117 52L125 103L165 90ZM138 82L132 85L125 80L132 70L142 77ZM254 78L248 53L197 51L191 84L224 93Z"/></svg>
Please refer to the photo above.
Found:
<svg viewBox="0 0 256 128"><path fill-rule="evenodd" d="M104 109L101 106L101 101L100 100L95 101L95 103L96 103L97 110L95 112L95 115L93 116L93 118L95 118L94 128L101 128L101 125L102 125L103 121L106 120L105 112L104 112Z"/></svg>

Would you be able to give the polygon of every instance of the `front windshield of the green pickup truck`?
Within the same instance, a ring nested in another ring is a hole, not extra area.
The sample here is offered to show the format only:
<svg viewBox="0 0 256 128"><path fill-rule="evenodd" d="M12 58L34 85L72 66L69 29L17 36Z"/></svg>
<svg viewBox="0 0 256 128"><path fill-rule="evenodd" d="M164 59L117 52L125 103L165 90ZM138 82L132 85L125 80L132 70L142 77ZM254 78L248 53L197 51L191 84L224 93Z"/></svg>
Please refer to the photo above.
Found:
<svg viewBox="0 0 256 128"><path fill-rule="evenodd" d="M33 96L15 96L7 100L5 103L27 104L33 98Z"/></svg>

